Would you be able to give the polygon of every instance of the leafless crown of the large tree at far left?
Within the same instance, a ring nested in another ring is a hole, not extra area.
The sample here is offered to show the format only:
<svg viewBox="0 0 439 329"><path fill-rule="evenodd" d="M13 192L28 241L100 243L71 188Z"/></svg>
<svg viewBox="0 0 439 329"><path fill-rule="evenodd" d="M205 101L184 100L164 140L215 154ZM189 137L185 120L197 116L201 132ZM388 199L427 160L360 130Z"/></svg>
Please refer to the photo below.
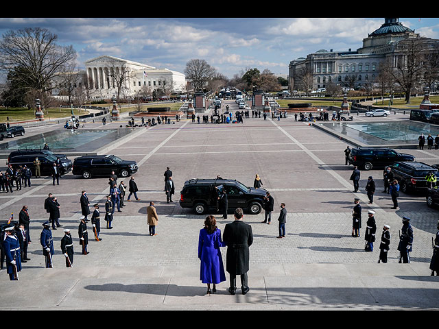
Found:
<svg viewBox="0 0 439 329"><path fill-rule="evenodd" d="M73 47L57 45L57 39L56 34L39 27L5 32L0 42L0 69L21 67L25 74L17 78L29 90L47 93L56 88L51 84L54 76L76 59Z"/></svg>

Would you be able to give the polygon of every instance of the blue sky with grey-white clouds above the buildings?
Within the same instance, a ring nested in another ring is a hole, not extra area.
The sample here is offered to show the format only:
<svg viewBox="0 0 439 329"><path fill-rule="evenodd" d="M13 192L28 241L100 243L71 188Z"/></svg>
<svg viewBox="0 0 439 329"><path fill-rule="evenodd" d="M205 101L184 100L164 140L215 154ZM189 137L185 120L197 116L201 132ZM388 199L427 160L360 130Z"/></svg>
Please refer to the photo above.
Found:
<svg viewBox="0 0 439 329"><path fill-rule="evenodd" d="M439 38L439 19L400 18L428 38ZM206 60L227 77L248 68L287 74L291 60L319 49L358 49L383 18L25 18L0 19L10 29L45 27L58 44L73 45L78 67L102 55L184 72L191 59Z"/></svg>

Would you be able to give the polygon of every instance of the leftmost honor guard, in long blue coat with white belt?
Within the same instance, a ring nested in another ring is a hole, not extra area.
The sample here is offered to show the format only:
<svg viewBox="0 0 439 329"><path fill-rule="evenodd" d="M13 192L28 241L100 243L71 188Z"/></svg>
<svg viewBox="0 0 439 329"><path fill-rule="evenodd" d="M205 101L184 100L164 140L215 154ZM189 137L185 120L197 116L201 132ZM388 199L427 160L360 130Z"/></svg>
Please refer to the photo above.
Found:
<svg viewBox="0 0 439 329"><path fill-rule="evenodd" d="M6 256L6 273L9 274L11 281L19 280L19 271L21 271L20 242L14 232L13 225L5 228L5 238L1 241Z"/></svg>

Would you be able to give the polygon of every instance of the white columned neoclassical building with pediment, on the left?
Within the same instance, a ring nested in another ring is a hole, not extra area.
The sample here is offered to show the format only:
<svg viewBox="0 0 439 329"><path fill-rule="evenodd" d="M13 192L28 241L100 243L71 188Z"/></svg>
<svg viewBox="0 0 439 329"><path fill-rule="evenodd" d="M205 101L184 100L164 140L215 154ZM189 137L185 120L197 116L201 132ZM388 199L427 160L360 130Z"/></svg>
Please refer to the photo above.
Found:
<svg viewBox="0 0 439 329"><path fill-rule="evenodd" d="M121 79L121 76L125 78ZM55 83L60 84L62 77ZM91 99L110 99L117 94L117 80L122 81L121 97L134 97L158 88L167 88L172 93L185 93L186 78L183 73L169 69L132 62L113 56L99 56L85 62L85 70L78 72L75 86L86 87ZM120 84L120 83L119 83ZM61 98L62 89L56 88L52 95Z"/></svg>

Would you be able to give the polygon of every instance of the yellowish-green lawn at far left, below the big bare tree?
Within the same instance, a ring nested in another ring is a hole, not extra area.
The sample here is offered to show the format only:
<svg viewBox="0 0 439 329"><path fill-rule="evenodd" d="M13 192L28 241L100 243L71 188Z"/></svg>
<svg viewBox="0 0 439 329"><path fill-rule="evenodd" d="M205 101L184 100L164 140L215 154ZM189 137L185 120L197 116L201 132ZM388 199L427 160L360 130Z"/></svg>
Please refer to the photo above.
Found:
<svg viewBox="0 0 439 329"><path fill-rule="evenodd" d="M70 117L71 115L71 109L70 108L49 108L49 113L46 113L44 111L44 118L46 120L49 119L57 119L57 118L65 118ZM73 113L75 115L84 115L88 114L88 111L86 110L73 110ZM35 119L34 110L27 108L2 108L0 107L0 122L5 123L8 121L14 122L14 121L26 121L26 120L33 120Z"/></svg>

